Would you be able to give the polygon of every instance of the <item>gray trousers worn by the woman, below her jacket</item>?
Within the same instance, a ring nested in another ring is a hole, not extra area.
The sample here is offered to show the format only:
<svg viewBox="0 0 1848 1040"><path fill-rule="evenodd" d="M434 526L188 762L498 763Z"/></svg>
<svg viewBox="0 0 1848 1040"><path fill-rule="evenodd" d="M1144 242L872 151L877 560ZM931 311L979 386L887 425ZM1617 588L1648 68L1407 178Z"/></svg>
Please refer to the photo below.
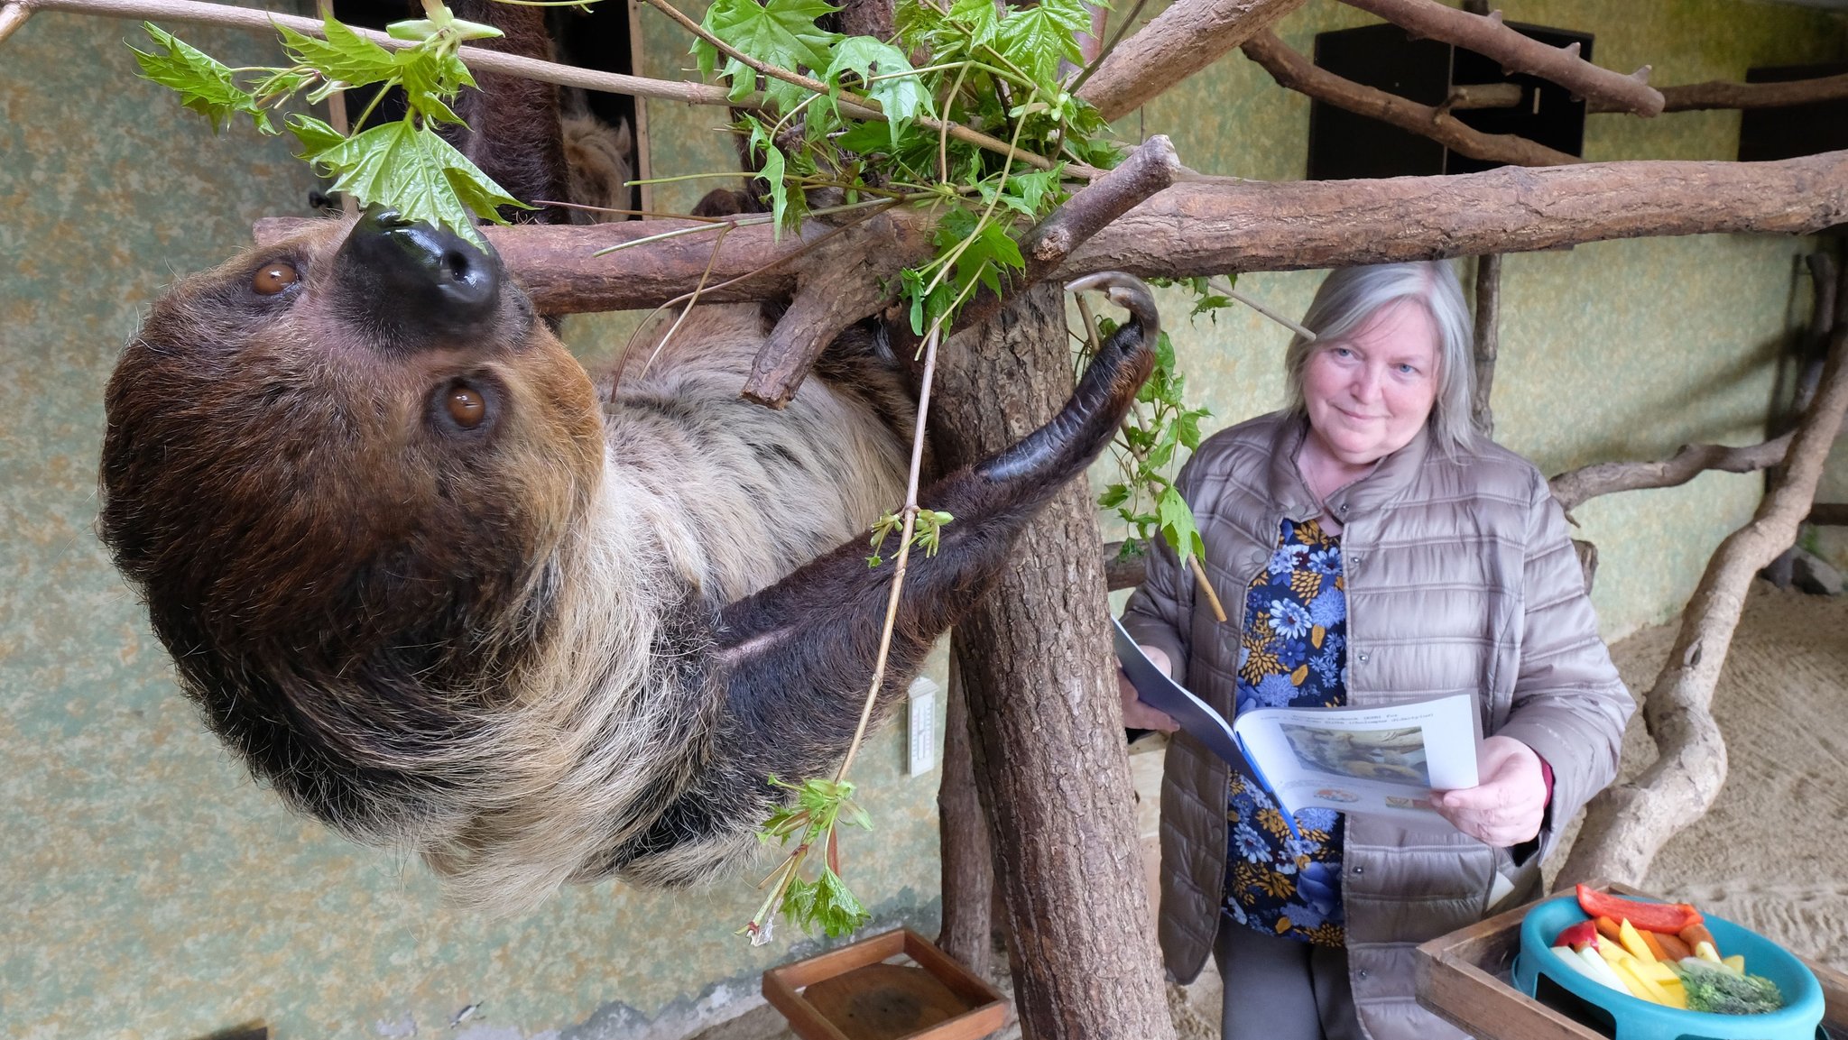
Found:
<svg viewBox="0 0 1848 1040"><path fill-rule="evenodd" d="M1212 959L1225 981L1225 1040L1362 1040L1345 949L1222 918Z"/></svg>

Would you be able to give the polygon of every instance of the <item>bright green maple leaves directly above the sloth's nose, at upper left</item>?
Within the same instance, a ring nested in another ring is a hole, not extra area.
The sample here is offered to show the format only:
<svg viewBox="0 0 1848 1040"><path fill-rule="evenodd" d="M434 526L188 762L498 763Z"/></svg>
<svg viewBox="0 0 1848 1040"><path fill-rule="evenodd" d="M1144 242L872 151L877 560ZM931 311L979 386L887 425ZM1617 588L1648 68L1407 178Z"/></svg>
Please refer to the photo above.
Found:
<svg viewBox="0 0 1848 1040"><path fill-rule="evenodd" d="M333 190L351 194L360 205L390 207L408 222L447 227L482 244L475 218L506 224L499 207L530 207L444 140L436 126L462 124L449 102L462 87L475 85L456 48L501 31L456 18L436 0L425 4L425 13L427 18L386 30L394 39L416 41L401 50L386 50L333 18L322 22L325 39L277 26L290 65L259 68L231 68L144 24L157 50L135 50L135 61L144 78L172 87L185 107L209 118L213 131L242 113L259 133L274 137L281 129L272 113L303 91L305 100L316 103L334 91L377 85L351 135L290 113L285 126L301 144L301 159L331 175ZM394 87L405 98L403 118L366 127L366 118Z"/></svg>

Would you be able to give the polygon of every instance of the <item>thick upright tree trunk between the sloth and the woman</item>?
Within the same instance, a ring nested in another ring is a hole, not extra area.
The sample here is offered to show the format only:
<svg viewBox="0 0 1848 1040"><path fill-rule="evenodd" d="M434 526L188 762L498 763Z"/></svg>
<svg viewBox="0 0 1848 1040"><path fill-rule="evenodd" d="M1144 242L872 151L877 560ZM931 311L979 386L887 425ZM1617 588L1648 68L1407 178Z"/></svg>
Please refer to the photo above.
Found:
<svg viewBox="0 0 1848 1040"><path fill-rule="evenodd" d="M939 458L954 467L1015 443L1072 390L1057 286L1022 294L937 364ZM957 626L963 691L1026 1033L1166 1040L1098 543L1088 486L1076 480Z"/></svg>

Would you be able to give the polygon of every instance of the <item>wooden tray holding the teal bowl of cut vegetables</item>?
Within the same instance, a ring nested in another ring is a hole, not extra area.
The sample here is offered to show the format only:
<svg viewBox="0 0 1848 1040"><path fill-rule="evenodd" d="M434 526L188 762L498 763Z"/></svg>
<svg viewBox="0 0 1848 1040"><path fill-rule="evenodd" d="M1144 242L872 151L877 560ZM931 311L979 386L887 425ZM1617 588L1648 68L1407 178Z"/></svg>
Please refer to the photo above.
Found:
<svg viewBox="0 0 1848 1040"><path fill-rule="evenodd" d="M1619 896L1643 896L1626 885L1591 883ZM1549 896L1550 898L1550 896ZM1521 951L1521 918L1515 907L1471 927L1432 938L1417 948L1417 1003L1464 1033L1493 1040L1602 1040L1604 1034L1536 1001L1508 983ZM1848 1040L1848 975L1802 957L1822 983L1822 1025Z"/></svg>

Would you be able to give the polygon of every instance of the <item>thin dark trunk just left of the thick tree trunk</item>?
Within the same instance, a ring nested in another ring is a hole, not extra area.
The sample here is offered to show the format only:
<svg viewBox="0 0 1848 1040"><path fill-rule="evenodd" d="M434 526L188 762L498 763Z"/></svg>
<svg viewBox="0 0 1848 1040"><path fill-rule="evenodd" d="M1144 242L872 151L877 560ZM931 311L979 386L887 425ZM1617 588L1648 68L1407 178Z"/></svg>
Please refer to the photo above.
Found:
<svg viewBox="0 0 1848 1040"><path fill-rule="evenodd" d="M937 948L987 979L992 961L994 916L989 907L994 901L994 853L968 750L961 643L961 635L952 632L950 689L944 691L942 720L942 781L937 787L937 831L942 844L942 931L937 933Z"/></svg>

